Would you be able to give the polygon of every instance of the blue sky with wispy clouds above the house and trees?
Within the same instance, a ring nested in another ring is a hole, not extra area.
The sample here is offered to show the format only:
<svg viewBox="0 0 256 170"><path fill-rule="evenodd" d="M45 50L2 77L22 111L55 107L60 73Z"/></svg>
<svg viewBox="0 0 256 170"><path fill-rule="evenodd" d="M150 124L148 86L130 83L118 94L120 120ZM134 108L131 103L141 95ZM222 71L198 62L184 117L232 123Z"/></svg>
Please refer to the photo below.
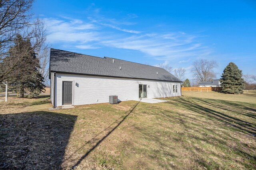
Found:
<svg viewBox="0 0 256 170"><path fill-rule="evenodd" d="M52 48L142 64L169 64L192 78L197 59L234 62L256 74L256 1L36 0Z"/></svg>

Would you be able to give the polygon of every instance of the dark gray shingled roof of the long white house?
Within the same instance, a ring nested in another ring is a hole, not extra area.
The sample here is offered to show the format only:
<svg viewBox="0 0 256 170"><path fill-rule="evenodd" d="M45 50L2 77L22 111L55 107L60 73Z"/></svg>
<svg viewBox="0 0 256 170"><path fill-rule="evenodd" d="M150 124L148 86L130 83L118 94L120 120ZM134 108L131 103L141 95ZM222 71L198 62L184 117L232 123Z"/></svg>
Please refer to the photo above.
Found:
<svg viewBox="0 0 256 170"><path fill-rule="evenodd" d="M94 57L58 49L51 49L50 72L181 82L163 68L119 59L114 59L113 63L113 58Z"/></svg>

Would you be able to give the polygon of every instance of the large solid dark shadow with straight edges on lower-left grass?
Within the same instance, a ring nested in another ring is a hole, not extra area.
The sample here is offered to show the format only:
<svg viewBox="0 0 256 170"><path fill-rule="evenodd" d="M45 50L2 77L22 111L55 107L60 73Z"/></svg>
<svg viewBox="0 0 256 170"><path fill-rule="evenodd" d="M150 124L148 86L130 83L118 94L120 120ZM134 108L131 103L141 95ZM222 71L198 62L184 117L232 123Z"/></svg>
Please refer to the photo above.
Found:
<svg viewBox="0 0 256 170"><path fill-rule="evenodd" d="M0 169L62 169L75 115L35 111L0 115Z"/></svg>

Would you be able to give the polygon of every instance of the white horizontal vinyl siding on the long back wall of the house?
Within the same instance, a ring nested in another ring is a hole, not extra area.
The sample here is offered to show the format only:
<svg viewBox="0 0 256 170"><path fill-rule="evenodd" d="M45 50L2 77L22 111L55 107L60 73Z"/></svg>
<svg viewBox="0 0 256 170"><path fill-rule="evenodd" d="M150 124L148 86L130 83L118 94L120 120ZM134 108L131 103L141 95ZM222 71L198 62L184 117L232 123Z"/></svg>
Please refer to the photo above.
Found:
<svg viewBox="0 0 256 170"><path fill-rule="evenodd" d="M73 81L73 105L109 102L111 95L117 95L118 101L138 100L139 84L147 84L147 98L180 96L179 82L56 73L56 106L62 105L62 81ZM177 92L172 92L172 85Z"/></svg>

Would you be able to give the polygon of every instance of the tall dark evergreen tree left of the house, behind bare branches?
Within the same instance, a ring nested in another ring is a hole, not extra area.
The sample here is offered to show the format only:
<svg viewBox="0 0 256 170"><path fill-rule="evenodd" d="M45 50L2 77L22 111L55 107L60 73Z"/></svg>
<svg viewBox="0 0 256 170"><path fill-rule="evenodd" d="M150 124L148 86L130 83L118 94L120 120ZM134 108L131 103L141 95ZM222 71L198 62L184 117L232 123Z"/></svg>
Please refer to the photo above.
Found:
<svg viewBox="0 0 256 170"><path fill-rule="evenodd" d="M18 63L18 69L8 78L10 88L14 92L19 92L21 98L24 97L25 91L30 93L29 97L38 96L45 87L44 78L38 71L40 61L31 47L30 40L25 40L18 34L14 40L14 46L8 52L8 57L4 59L4 63L12 64L10 61L14 61L20 53L26 53L26 56Z"/></svg>

